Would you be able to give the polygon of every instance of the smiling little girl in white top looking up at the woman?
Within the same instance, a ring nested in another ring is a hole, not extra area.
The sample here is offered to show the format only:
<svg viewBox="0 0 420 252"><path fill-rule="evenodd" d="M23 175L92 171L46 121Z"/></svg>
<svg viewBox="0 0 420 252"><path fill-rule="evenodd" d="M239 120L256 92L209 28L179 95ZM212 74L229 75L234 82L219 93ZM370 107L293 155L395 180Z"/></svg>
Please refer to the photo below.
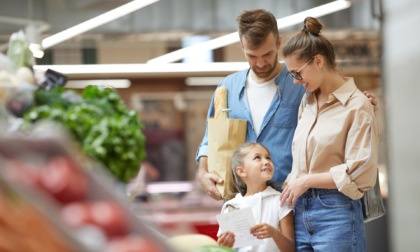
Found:
<svg viewBox="0 0 420 252"><path fill-rule="evenodd" d="M237 193L225 202L222 213L229 208L251 207L256 223L250 233L264 244L240 248L238 251L294 251L293 211L280 206L280 192L268 185L273 177L274 165L270 153L262 144L245 143L232 156L232 173ZM221 233L218 244L232 247L235 236L231 232Z"/></svg>

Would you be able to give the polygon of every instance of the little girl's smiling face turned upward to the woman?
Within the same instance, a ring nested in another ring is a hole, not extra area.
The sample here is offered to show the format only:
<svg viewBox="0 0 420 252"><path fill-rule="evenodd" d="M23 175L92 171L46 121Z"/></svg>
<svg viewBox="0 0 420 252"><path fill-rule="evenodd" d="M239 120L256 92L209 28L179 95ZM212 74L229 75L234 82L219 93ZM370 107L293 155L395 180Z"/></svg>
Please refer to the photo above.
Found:
<svg viewBox="0 0 420 252"><path fill-rule="evenodd" d="M249 147L244 157L244 173L249 182L266 182L273 177L274 165L270 153L262 146Z"/></svg>

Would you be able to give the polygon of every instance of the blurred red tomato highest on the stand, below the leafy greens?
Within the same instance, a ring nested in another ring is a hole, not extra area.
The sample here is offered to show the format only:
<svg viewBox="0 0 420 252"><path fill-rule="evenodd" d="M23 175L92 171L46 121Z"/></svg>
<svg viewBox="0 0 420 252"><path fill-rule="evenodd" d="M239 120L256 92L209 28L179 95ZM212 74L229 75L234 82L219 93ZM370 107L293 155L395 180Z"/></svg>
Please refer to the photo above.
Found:
<svg viewBox="0 0 420 252"><path fill-rule="evenodd" d="M87 178L72 160L64 156L53 157L47 163L42 170L40 184L61 203L82 200L88 192Z"/></svg>

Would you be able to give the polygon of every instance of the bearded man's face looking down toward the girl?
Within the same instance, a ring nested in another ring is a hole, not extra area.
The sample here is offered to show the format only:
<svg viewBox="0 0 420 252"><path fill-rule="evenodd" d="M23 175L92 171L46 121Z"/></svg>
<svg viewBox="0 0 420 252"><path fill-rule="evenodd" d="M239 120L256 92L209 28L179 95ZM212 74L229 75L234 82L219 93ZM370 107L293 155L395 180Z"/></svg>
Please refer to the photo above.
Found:
<svg viewBox="0 0 420 252"><path fill-rule="evenodd" d="M255 75L264 81L272 79L274 77L272 74L278 64L280 39L277 42L273 33L270 33L257 48L252 48L244 38L241 40L241 45L245 58Z"/></svg>

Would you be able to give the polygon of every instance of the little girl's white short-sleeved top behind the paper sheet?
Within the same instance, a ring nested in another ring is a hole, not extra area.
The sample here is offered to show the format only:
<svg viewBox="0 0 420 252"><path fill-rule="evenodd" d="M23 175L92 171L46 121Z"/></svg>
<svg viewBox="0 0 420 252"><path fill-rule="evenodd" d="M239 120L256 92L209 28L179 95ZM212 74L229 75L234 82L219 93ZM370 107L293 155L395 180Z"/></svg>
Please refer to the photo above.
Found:
<svg viewBox="0 0 420 252"><path fill-rule="evenodd" d="M251 196L243 197L240 193L238 193L235 198L225 202L222 208L222 213L227 213L229 209L227 208L228 205L231 205L235 208L243 209L247 207L251 207L252 214L254 215L255 222L259 223L267 223L277 230L279 228L279 221L286 217L291 208L288 208L286 204L280 206L280 195L281 193L274 190L272 187L268 186L263 192L256 193ZM219 229L218 234L220 234L221 230ZM252 251L252 252L276 252L280 251L277 247L276 243L274 242L273 238L268 238L263 240L264 243L258 246L249 246L245 248L239 248L237 251L245 252L245 251Z"/></svg>

